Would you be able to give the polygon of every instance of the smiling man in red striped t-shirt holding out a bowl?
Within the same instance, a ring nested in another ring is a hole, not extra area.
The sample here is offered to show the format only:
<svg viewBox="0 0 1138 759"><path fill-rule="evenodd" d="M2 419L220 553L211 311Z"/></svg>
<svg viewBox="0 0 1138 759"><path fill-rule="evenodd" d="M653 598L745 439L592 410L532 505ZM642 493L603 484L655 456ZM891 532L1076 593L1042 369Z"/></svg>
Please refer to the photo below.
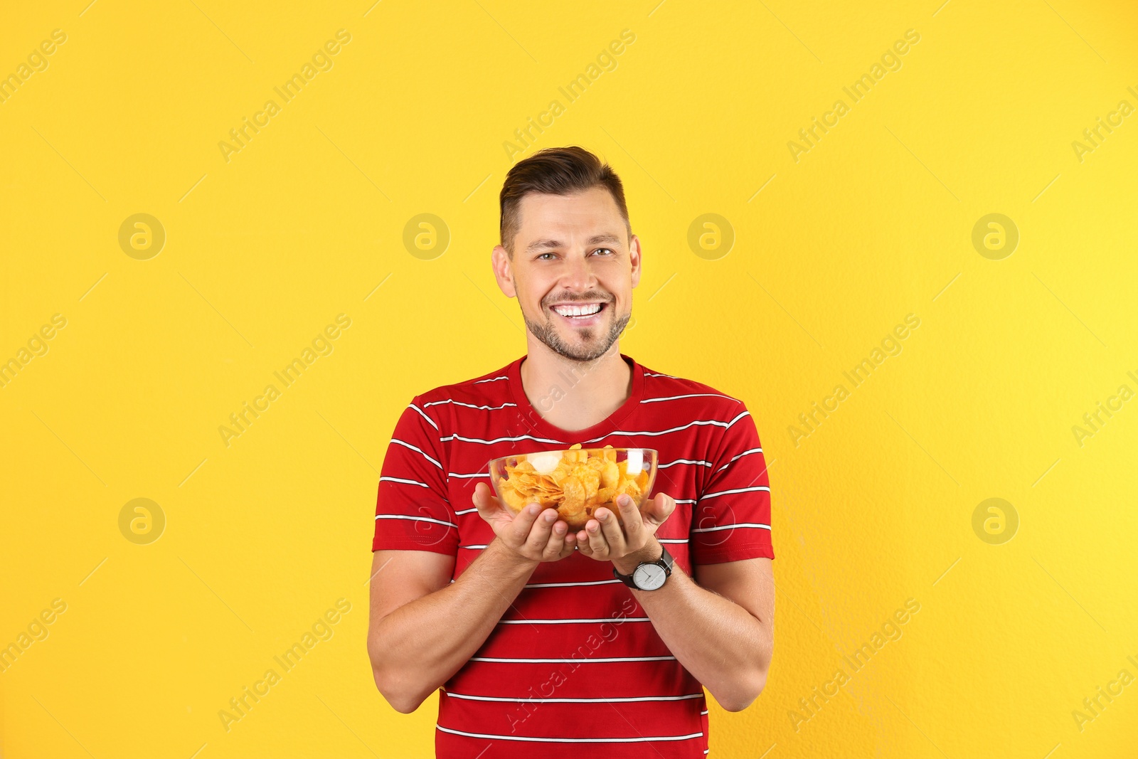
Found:
<svg viewBox="0 0 1138 759"><path fill-rule="evenodd" d="M701 685L739 711L770 666L754 421L619 352L642 254L608 165L542 150L510 171L501 209L494 275L527 353L415 396L396 424L372 542L376 685L404 713L439 691L438 757L703 757ZM494 497L490 459L575 443L659 452L654 495L619 504L622 528L604 508L572 531Z"/></svg>

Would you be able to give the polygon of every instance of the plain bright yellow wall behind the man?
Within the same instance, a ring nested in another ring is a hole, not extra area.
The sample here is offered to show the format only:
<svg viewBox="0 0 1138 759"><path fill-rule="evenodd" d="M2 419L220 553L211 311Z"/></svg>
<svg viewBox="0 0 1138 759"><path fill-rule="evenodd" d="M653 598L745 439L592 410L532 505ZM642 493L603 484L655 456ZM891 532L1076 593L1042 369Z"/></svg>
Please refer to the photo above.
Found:
<svg viewBox="0 0 1138 759"><path fill-rule="evenodd" d="M774 665L745 711L711 704L711 756L1133 754L1138 684L1081 729L1072 711L1138 676L1138 402L1081 446L1072 427L1138 390L1138 115L1081 162L1071 145L1138 106L1132 5L370 5L6 14L0 74L67 41L0 104L0 360L67 325L0 388L0 645L67 610L0 675L5 757L431 756L435 698L396 713L365 655L377 470L414 394L525 350L489 251L503 143L554 99L525 155L611 162L642 240L621 349L743 398L772 465ZM218 142L340 28L332 68L226 162ZM166 232L147 261L118 245L137 213ZM403 244L421 213L450 231L432 259ZM687 244L706 213L735 234L717 259ZM1020 231L1000 261L972 245L990 213ZM217 428L341 313L335 350L226 446ZM795 446L909 313L901 353ZM118 528L138 497L166 517L149 545ZM990 497L1019 514L1000 545L972 527ZM335 635L226 732L218 710L341 597ZM904 635L852 674L907 599Z"/></svg>

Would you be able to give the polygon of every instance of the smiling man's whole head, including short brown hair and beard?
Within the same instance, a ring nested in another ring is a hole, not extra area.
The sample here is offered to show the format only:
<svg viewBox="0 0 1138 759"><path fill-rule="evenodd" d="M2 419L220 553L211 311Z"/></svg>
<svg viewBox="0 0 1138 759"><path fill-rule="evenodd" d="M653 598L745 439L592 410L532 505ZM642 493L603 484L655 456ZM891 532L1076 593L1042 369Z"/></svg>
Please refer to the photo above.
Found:
<svg viewBox="0 0 1138 759"><path fill-rule="evenodd" d="M510 170L500 203L494 275L530 333L574 361L604 355L632 316L641 274L620 178L584 148L547 148Z"/></svg>

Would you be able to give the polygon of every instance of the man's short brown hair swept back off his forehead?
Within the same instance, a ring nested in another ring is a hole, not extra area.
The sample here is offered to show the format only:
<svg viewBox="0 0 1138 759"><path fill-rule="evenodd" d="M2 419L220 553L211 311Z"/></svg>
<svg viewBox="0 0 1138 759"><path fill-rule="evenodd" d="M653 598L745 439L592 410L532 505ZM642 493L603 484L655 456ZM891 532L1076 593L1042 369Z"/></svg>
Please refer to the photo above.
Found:
<svg viewBox="0 0 1138 759"><path fill-rule="evenodd" d="M632 225L628 223L628 206L625 204L625 188L620 178L607 163L585 148L569 146L564 148L545 148L528 158L522 158L513 165L505 175L498 204L502 209L502 221L498 231L502 236L502 247L513 258L513 238L521 226L521 199L530 192L546 195L575 195L594 187L603 187L612 196L625 218L625 229L632 237Z"/></svg>

